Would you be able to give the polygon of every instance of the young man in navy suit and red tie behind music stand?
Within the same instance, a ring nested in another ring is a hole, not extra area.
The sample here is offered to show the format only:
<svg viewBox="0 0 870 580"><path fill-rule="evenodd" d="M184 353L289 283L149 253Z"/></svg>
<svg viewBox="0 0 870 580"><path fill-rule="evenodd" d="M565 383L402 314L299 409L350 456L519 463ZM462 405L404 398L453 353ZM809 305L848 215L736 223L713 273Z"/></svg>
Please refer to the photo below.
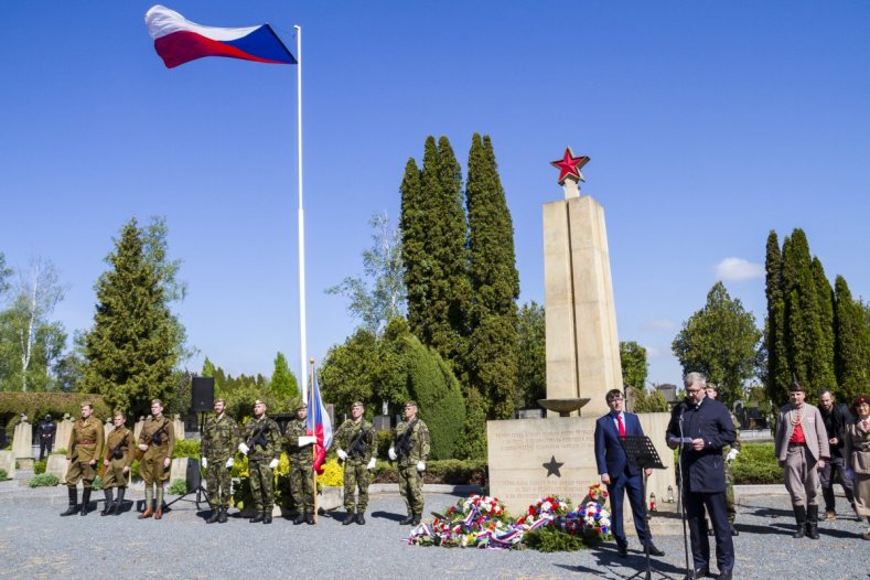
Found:
<svg viewBox="0 0 870 580"><path fill-rule="evenodd" d="M644 547L649 547L652 556L664 556L665 552L653 545L653 536L646 525L641 470L629 465L629 458L620 442L625 436L643 437L641 421L636 415L623 410L625 399L621 390L608 391L606 401L610 412L595 421L595 463L601 483L608 486L610 494L610 505L613 511L611 525L613 537L616 538L616 549L623 558L629 555L629 540L625 538L622 523L624 492L627 492L637 539ZM652 472L652 469L647 469L646 475Z"/></svg>

